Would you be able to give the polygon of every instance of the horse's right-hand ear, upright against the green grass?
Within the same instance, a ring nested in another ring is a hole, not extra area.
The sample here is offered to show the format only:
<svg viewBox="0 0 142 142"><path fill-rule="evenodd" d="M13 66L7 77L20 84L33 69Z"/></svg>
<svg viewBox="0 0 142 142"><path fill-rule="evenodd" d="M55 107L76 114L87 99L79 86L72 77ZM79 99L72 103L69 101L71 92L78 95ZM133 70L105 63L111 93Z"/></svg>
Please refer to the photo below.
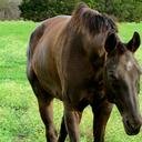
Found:
<svg viewBox="0 0 142 142"><path fill-rule="evenodd" d="M134 32L133 38L128 43L128 49L135 52L141 43L141 39L138 32Z"/></svg>

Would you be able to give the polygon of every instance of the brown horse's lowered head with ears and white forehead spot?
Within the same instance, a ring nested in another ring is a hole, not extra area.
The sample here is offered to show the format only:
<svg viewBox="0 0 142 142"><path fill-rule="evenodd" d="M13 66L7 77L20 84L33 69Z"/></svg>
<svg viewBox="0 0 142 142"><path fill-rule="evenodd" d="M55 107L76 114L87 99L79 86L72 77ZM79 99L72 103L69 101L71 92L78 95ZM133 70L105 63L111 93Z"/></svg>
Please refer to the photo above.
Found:
<svg viewBox="0 0 142 142"><path fill-rule="evenodd" d="M106 38L104 44L106 51L104 91L108 100L119 109L129 135L138 134L142 125L138 99L142 70L134 58L139 45L138 32L134 32L128 43L123 43L115 33L112 33Z"/></svg>

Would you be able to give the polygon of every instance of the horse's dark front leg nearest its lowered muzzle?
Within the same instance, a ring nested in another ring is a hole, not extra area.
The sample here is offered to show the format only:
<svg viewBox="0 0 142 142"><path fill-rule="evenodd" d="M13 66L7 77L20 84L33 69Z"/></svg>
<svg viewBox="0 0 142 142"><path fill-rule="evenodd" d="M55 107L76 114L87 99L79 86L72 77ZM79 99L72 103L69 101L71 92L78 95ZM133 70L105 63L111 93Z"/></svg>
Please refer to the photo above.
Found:
<svg viewBox="0 0 142 142"><path fill-rule="evenodd" d="M103 97L103 91L100 92ZM97 99L98 100L98 99ZM94 142L104 142L104 133L105 133L105 126L106 122L110 118L113 104L110 103L105 97L103 97L100 101L97 100L92 104L92 111L94 114L93 119L93 136Z"/></svg>

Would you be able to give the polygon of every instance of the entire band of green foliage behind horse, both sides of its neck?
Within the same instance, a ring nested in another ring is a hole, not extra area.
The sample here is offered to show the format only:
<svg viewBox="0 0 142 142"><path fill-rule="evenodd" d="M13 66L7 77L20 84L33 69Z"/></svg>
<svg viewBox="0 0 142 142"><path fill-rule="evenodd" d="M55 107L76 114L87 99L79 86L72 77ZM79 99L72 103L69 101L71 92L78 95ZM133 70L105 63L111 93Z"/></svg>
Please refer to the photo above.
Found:
<svg viewBox="0 0 142 142"><path fill-rule="evenodd" d="M142 0L82 0L101 13L115 17L120 22L142 20ZM19 6L24 20L43 21L59 14L72 14L80 0L23 0Z"/></svg>

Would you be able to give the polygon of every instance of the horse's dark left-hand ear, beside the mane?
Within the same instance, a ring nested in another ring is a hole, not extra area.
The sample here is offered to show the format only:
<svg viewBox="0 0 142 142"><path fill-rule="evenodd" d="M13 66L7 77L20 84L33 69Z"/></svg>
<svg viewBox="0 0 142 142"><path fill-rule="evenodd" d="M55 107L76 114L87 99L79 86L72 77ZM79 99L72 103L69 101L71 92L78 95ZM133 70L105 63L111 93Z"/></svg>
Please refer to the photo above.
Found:
<svg viewBox="0 0 142 142"><path fill-rule="evenodd" d="M116 37L114 33L110 34L105 41L105 51L108 53L111 53L116 44Z"/></svg>

